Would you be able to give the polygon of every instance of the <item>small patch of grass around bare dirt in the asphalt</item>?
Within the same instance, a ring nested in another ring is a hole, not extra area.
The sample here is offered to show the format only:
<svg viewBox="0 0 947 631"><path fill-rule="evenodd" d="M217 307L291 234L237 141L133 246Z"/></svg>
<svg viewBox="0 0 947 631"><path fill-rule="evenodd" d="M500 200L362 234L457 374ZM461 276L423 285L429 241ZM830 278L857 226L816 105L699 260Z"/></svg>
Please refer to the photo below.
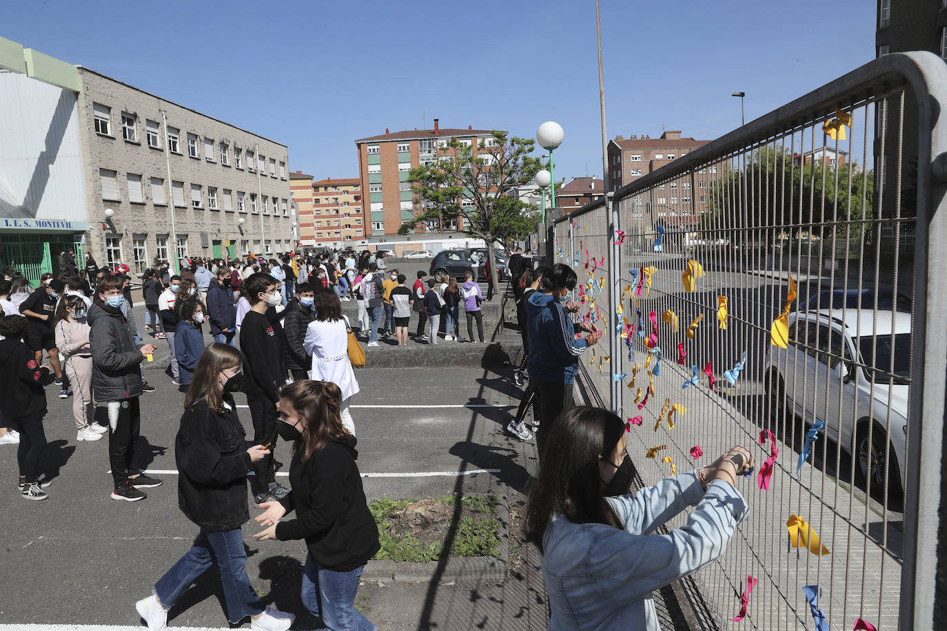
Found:
<svg viewBox="0 0 947 631"><path fill-rule="evenodd" d="M378 525L381 550L376 559L391 561L425 562L436 561L444 555L443 542L424 543L411 533L393 535L395 513L402 511L408 504L418 500L390 500L382 498L368 504L372 517ZM456 506L456 498L447 496L435 501L450 507ZM499 540L496 531L499 521L496 519L496 506L499 500L494 496L470 496L461 499L460 521L454 537L450 556L496 556Z"/></svg>

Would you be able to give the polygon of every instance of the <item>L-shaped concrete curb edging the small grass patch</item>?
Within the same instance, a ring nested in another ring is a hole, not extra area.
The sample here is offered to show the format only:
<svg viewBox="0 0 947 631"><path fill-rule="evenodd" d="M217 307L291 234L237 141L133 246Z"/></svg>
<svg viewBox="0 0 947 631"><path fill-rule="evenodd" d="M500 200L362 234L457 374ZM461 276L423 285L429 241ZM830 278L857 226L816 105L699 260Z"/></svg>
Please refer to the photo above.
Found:
<svg viewBox="0 0 947 631"><path fill-rule="evenodd" d="M499 556L451 556L444 564L438 581L449 583L503 583L509 571L509 500L497 496L496 520L500 527L496 532L499 540ZM368 561L362 572L363 581L395 583L430 583L438 574L438 561L412 563L409 561Z"/></svg>

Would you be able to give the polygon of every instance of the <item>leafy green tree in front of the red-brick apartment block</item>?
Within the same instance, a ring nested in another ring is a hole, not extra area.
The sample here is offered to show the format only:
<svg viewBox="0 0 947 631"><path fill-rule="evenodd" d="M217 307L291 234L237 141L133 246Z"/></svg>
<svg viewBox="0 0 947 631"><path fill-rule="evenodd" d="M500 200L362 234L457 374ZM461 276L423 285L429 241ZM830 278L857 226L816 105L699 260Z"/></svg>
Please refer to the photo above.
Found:
<svg viewBox="0 0 947 631"><path fill-rule="evenodd" d="M534 142L508 138L504 131L492 131L490 138L479 139L475 150L456 137L446 141L438 147L434 163L412 168L408 174L419 211L398 233L405 235L429 219L463 218L461 232L487 243L493 287L498 288L494 243L509 248L539 221L535 205L510 196L542 168L539 158L530 155Z"/></svg>

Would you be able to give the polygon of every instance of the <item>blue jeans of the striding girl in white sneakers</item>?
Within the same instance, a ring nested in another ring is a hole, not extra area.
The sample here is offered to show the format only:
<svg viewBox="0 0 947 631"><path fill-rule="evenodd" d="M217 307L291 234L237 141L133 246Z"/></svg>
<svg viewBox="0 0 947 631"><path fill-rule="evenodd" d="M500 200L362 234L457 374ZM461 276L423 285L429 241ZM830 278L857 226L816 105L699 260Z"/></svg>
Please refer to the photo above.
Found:
<svg viewBox="0 0 947 631"><path fill-rule="evenodd" d="M250 585L250 577L246 575L246 550L243 548L243 532L240 528L223 532L210 532L202 528L188 553L154 584L158 600L170 608L213 563L217 564L221 572L227 620L237 623L246 616L261 614L266 605L259 600L257 592Z"/></svg>

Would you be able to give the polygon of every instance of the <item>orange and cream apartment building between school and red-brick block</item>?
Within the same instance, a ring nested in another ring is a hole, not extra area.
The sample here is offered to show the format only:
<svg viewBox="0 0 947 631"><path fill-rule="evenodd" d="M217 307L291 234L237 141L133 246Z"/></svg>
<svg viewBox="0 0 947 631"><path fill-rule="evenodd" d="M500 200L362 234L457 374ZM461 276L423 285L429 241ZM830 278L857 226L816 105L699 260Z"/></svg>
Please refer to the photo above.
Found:
<svg viewBox="0 0 947 631"><path fill-rule="evenodd" d="M359 178L313 182L301 171L290 173L290 189L299 214L303 246L346 248L363 243L365 213Z"/></svg>

